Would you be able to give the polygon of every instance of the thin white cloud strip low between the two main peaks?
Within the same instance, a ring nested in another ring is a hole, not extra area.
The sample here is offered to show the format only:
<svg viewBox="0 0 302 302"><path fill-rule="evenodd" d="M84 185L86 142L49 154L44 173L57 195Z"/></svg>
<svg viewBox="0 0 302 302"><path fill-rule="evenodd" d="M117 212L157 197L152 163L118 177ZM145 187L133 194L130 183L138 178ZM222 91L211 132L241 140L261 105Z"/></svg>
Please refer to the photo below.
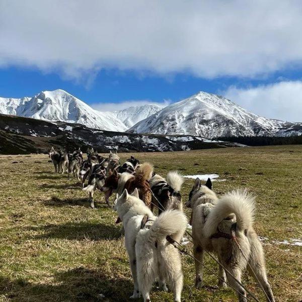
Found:
<svg viewBox="0 0 302 302"><path fill-rule="evenodd" d="M145 104L156 104L159 106L168 106L171 103L170 100L164 100L163 102L152 102L150 100L129 100L121 103L94 103L90 106L99 111L116 111L123 110L133 106L142 106Z"/></svg>

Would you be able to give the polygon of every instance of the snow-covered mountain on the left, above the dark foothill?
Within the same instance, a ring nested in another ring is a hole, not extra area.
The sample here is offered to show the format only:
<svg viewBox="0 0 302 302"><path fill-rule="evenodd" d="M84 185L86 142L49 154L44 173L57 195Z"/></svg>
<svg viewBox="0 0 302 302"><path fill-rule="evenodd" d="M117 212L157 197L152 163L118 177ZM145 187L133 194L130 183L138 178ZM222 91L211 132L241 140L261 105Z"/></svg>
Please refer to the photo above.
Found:
<svg viewBox="0 0 302 302"><path fill-rule="evenodd" d="M61 89L43 91L33 98L1 98L0 112L47 121L79 123L103 130L127 130L127 127L113 113L94 110Z"/></svg>

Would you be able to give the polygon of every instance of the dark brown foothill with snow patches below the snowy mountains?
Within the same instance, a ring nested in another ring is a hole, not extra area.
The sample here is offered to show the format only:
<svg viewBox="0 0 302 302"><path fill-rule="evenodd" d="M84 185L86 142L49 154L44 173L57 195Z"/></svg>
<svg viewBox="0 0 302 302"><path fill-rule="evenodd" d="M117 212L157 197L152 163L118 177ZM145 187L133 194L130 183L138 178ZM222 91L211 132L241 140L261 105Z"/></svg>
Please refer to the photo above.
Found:
<svg viewBox="0 0 302 302"><path fill-rule="evenodd" d="M99 152L179 151L241 146L195 136L141 135L102 131L81 124L47 122L32 118L0 115L0 154L46 153L55 146L71 152L93 146Z"/></svg>

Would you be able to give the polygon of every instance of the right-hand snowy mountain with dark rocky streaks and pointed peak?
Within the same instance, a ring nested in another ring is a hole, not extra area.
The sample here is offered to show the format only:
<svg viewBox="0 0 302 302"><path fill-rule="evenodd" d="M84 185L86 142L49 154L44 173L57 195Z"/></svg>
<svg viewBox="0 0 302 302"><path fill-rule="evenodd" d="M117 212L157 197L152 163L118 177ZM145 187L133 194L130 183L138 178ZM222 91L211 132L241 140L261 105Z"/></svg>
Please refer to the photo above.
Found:
<svg viewBox="0 0 302 302"><path fill-rule="evenodd" d="M299 135L302 124L267 119L223 97L199 92L132 126L130 133L219 136Z"/></svg>

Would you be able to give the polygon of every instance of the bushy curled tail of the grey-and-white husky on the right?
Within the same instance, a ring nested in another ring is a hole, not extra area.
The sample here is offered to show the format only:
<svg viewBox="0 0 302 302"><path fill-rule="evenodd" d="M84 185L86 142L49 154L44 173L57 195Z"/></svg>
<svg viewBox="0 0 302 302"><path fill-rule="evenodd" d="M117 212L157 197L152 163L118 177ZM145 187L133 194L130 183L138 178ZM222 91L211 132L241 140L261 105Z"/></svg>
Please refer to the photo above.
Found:
<svg viewBox="0 0 302 302"><path fill-rule="evenodd" d="M206 237L211 237L217 231L218 224L230 214L236 215L237 231L243 232L254 221L255 197L247 190L236 190L227 193L218 200L217 205L209 212L203 226Z"/></svg>

